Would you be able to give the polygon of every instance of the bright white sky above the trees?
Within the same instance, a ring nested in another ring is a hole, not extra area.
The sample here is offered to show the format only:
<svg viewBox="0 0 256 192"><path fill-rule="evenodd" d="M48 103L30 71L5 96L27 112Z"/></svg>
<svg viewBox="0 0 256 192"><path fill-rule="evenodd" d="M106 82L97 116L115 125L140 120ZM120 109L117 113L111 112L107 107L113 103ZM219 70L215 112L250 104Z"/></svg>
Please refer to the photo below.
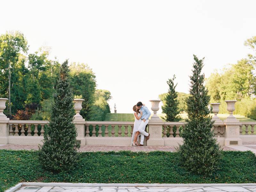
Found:
<svg viewBox="0 0 256 192"><path fill-rule="evenodd" d="M0 34L19 30L29 52L52 47L51 57L87 63L98 89L107 89L117 113L158 99L177 76L188 93L193 54L204 73L246 57L256 35L256 1L2 1ZM158 111L161 112L161 109Z"/></svg>

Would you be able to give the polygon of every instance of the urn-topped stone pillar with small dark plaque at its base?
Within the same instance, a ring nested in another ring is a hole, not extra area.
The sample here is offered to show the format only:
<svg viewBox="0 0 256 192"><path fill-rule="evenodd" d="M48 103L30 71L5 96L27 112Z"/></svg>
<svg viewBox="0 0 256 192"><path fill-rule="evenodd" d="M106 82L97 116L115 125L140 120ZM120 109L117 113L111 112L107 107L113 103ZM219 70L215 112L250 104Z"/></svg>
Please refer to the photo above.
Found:
<svg viewBox="0 0 256 192"><path fill-rule="evenodd" d="M240 123L239 120L233 116L233 111L235 111L235 103L236 100L226 100L225 101L228 105L227 110L229 112L229 116L224 121L226 126L225 132L225 146L228 145L242 145L242 139L240 139Z"/></svg>

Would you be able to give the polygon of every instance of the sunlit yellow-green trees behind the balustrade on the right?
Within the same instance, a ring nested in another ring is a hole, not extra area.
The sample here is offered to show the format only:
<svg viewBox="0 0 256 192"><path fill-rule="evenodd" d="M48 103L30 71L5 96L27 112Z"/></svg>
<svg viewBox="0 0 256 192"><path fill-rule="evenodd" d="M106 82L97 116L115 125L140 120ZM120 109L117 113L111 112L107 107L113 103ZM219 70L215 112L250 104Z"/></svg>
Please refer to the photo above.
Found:
<svg viewBox="0 0 256 192"><path fill-rule="evenodd" d="M205 86L211 96L210 102L219 102L220 112L228 113L224 100L237 100L234 114L240 114L256 119L256 36L244 42L252 50L246 58L238 60L236 64L215 70L207 79ZM177 92L178 108L180 112L187 110L185 99L189 94ZM166 106L167 93L159 95Z"/></svg>

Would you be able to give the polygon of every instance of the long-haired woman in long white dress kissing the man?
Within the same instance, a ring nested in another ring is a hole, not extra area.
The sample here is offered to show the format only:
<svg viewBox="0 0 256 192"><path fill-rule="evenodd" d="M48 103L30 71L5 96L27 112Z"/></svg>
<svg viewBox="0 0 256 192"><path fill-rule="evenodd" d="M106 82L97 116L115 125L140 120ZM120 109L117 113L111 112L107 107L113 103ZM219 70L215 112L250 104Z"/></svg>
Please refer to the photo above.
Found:
<svg viewBox="0 0 256 192"><path fill-rule="evenodd" d="M139 134L140 132L138 132L138 128L140 126L141 123L141 119L140 117L142 116L142 112L140 112L140 108L136 105L133 106L133 115L135 117L135 121L133 124L133 132L132 132L132 146L138 146L138 141L139 141Z"/></svg>

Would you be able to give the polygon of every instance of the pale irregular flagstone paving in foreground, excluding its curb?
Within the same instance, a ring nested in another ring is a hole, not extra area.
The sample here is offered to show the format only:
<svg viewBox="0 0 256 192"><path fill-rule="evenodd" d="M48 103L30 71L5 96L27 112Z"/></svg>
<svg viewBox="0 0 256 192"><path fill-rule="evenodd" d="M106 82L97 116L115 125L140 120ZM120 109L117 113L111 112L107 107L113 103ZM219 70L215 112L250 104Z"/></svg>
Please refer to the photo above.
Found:
<svg viewBox="0 0 256 192"><path fill-rule="evenodd" d="M202 184L203 185L203 184ZM198 187L90 187L90 186L22 186L15 192L177 192L177 191L191 191L191 192L248 192L256 191L256 186L198 186Z"/></svg>

